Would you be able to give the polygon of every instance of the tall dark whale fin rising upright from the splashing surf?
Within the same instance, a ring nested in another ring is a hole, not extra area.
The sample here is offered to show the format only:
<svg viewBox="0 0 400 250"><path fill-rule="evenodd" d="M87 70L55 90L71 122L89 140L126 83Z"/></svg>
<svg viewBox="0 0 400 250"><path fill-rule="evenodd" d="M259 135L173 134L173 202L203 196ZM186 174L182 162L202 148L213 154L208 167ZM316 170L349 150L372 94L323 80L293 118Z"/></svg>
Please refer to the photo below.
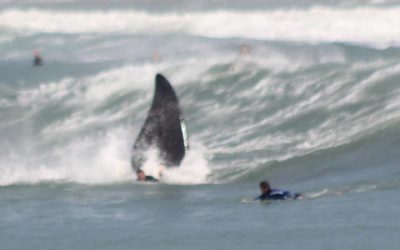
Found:
<svg viewBox="0 0 400 250"><path fill-rule="evenodd" d="M132 168L140 169L146 161L146 150L155 147L161 164L177 167L189 145L178 98L168 80L156 75L153 103L144 125L133 144Z"/></svg>

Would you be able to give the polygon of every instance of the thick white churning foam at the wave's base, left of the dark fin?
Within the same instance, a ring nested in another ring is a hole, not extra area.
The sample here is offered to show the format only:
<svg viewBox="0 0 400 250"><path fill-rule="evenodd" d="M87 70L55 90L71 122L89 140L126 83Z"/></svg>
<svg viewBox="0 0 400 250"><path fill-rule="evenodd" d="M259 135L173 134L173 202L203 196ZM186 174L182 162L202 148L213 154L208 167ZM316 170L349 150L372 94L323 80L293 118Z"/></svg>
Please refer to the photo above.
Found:
<svg viewBox="0 0 400 250"><path fill-rule="evenodd" d="M0 186L40 182L108 184L134 180L124 129L105 135L77 138L69 145L46 152L42 159L25 157L2 161ZM48 157L57 158L48 163ZM12 162L10 164L10 162Z"/></svg>

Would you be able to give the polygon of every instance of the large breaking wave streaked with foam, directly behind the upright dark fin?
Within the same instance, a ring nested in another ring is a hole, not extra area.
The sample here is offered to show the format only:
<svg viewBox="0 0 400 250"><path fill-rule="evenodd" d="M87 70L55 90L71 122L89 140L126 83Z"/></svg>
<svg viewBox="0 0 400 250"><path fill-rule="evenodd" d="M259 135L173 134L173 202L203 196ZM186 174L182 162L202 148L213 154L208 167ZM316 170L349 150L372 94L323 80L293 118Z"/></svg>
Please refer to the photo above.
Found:
<svg viewBox="0 0 400 250"><path fill-rule="evenodd" d="M187 60L130 64L3 87L0 184L131 181L130 148L149 109L156 72L173 83L195 145L180 169L165 173L168 183L247 181L273 169L306 169L328 156L340 165L348 145L362 145L348 148L357 155L358 147L377 143L365 138L397 131L395 61L287 71L257 59L202 60L196 70L182 66Z"/></svg>

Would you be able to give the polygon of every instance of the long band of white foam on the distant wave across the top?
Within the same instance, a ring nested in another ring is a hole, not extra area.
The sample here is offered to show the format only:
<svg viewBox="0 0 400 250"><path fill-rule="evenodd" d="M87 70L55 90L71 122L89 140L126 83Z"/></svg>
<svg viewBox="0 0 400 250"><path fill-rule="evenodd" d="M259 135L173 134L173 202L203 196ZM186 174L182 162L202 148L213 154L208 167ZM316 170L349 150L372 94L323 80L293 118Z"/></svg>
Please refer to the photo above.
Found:
<svg viewBox="0 0 400 250"><path fill-rule="evenodd" d="M303 42L400 43L400 7L147 13L8 9L0 23L26 33L175 33Z"/></svg>

